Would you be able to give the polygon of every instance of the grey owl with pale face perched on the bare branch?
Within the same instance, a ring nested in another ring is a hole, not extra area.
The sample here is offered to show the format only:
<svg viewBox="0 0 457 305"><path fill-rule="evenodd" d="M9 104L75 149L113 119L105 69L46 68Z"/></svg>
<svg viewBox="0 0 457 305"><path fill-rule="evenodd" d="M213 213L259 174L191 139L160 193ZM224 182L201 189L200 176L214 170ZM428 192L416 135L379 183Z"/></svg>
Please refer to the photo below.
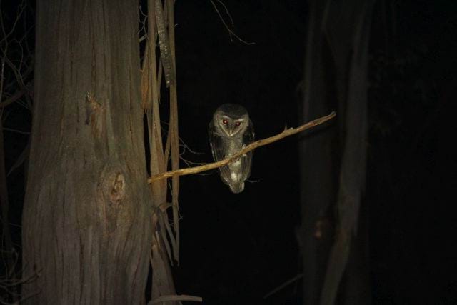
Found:
<svg viewBox="0 0 457 305"><path fill-rule="evenodd" d="M233 156L254 140L254 129L248 111L238 104L222 104L209 123L209 144L214 161ZM251 174L253 151L249 151L231 164L219 167L224 184L233 193L241 193L244 181Z"/></svg>

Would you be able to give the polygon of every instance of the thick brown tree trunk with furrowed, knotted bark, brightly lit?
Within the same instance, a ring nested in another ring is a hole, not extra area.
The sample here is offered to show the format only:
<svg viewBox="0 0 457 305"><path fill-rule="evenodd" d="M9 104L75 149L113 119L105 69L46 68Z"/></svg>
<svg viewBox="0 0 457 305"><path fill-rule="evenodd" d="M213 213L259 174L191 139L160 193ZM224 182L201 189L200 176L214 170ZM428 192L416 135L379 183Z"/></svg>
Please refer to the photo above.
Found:
<svg viewBox="0 0 457 305"><path fill-rule="evenodd" d="M27 304L141 304L151 246L138 3L38 1ZM90 93L90 94L88 94Z"/></svg>

